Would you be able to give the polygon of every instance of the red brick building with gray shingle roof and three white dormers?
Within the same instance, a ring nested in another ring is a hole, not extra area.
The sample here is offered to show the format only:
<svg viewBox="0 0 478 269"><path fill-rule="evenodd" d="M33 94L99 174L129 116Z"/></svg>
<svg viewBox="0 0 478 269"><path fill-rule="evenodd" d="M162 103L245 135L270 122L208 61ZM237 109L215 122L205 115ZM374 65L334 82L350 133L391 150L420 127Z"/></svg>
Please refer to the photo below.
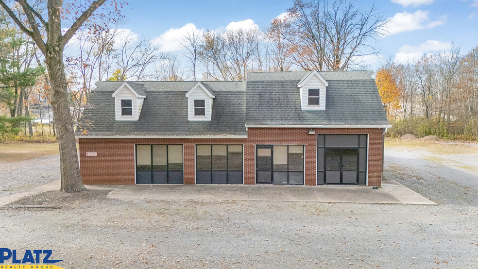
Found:
<svg viewBox="0 0 478 269"><path fill-rule="evenodd" d="M372 74L98 82L77 129L83 181L379 186L390 124Z"/></svg>

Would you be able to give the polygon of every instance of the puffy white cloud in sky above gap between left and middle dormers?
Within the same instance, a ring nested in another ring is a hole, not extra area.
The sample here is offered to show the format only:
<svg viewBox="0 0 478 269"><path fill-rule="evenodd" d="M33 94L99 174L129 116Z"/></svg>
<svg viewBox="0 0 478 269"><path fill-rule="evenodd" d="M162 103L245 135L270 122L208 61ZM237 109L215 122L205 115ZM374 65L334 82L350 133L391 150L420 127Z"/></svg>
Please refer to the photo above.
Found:
<svg viewBox="0 0 478 269"><path fill-rule="evenodd" d="M185 35L191 32L202 34L204 33L204 29L198 29L193 23L188 23L181 28L171 28L154 38L152 42L158 45L162 51L182 50L183 46L180 42L184 40Z"/></svg>

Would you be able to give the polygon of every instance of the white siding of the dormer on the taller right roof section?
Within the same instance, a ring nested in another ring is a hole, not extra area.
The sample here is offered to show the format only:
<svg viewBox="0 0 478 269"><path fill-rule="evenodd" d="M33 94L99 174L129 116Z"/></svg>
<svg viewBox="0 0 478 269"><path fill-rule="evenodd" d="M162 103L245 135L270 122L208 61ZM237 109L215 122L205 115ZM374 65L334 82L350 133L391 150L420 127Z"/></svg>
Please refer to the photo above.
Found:
<svg viewBox="0 0 478 269"><path fill-rule="evenodd" d="M300 91L301 108L302 110L325 110L325 95L328 83L317 72L312 71L307 75L298 85ZM319 89L319 104L308 104L309 89Z"/></svg>

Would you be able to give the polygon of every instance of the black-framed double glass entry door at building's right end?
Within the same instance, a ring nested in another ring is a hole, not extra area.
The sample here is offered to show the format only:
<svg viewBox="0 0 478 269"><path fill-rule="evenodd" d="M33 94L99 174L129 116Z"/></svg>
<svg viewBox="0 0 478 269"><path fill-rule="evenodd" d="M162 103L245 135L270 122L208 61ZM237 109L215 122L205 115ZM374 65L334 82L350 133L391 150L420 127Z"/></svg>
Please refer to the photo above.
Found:
<svg viewBox="0 0 478 269"><path fill-rule="evenodd" d="M325 149L325 183L358 184L359 149Z"/></svg>

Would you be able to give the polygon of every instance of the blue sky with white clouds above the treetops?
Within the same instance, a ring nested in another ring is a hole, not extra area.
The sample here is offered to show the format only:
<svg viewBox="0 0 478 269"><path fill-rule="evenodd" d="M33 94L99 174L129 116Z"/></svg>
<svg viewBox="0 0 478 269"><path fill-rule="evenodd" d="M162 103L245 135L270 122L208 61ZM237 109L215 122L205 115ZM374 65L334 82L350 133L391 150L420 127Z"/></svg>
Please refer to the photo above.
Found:
<svg viewBox="0 0 478 269"><path fill-rule="evenodd" d="M423 53L446 50L451 42L461 44L462 52L478 45L478 0L356 1L363 8L374 3L385 18L391 18L391 33L372 43L382 58L406 62ZM164 51L175 53L179 47L175 39L188 29L248 27L252 23L265 29L292 4L293 0L131 1L123 11L121 28L152 38ZM375 57L366 61L372 68L380 62Z"/></svg>

